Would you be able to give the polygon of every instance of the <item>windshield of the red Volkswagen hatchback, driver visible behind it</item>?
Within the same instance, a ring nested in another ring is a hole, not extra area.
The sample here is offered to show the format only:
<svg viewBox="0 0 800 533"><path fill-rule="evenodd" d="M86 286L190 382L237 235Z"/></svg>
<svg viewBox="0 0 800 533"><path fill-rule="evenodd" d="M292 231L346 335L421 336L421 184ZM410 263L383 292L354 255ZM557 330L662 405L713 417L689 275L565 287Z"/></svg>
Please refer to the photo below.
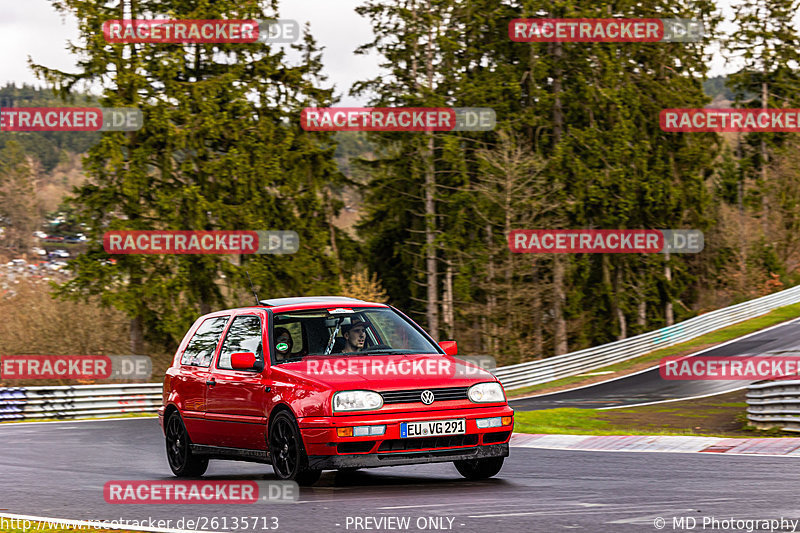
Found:
<svg viewBox="0 0 800 533"><path fill-rule="evenodd" d="M276 362L306 356L440 353L414 326L385 307L331 307L276 313Z"/></svg>

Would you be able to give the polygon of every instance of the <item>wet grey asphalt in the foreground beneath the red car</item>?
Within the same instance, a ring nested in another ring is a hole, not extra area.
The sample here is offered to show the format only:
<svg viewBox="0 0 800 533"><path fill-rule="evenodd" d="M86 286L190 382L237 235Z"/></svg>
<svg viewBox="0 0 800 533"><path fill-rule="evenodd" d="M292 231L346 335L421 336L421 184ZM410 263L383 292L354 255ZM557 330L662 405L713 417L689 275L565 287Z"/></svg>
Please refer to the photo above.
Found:
<svg viewBox="0 0 800 533"><path fill-rule="evenodd" d="M485 482L443 463L328 472L291 504L111 505L107 481L174 479L157 420L7 424L0 449L0 512L50 518L170 519L175 527L181 517L260 515L278 517L278 531L320 533L365 530L348 528L348 517L410 517L409 531L452 519L452 529L438 530L481 533L655 532L658 517L669 531L680 530L673 517L695 518L695 531L731 531L701 529L702 520L800 519L791 457L512 448L500 476ZM230 461L212 462L206 478L274 479L269 466Z"/></svg>

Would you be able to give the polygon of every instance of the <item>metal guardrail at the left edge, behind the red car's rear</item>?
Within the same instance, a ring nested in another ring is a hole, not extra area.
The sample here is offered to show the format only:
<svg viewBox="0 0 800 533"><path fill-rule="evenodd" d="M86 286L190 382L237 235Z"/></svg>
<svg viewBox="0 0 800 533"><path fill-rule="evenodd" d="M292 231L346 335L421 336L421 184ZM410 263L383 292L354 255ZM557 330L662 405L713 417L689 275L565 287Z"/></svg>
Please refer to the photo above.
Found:
<svg viewBox="0 0 800 533"><path fill-rule="evenodd" d="M161 383L0 387L0 421L150 413L161 406Z"/></svg>

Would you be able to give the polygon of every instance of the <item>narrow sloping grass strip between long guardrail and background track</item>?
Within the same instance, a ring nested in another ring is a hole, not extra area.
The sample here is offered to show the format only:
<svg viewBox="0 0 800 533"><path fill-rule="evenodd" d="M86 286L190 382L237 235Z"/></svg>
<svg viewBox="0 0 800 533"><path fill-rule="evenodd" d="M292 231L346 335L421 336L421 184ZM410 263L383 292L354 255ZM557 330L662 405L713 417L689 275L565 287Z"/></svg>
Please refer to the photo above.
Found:
<svg viewBox="0 0 800 533"><path fill-rule="evenodd" d="M625 371L630 370L634 365L639 365L642 363L653 363L655 365L662 357L668 357L687 351L696 351L701 346L706 346L709 344L720 344L737 337L747 335L748 333L753 333L754 331L768 328L770 326L774 326L776 324L780 324L781 322L786 322L787 320L792 320L793 318L798 317L800 317L800 304L779 307L778 309L774 309L760 317L751 318L750 320L745 320L743 322L739 322L738 324L733 324L732 326L728 326L717 331L712 331L711 333L706 333L705 335L695 337L692 340L682 342L674 346L661 348L660 350L650 352L647 355L643 355L635 359L629 359L628 361L623 361L621 363L597 368L591 372L612 371L615 374L619 373L618 375L624 375ZM613 377L618 377L618 375L615 376L608 374L605 377L611 379ZM530 387L508 391L508 397L516 398L535 392L544 393L552 389L565 387L568 385L578 386L584 381L586 381L586 376L570 376L555 381L548 381L547 383L540 383L539 385L532 385Z"/></svg>

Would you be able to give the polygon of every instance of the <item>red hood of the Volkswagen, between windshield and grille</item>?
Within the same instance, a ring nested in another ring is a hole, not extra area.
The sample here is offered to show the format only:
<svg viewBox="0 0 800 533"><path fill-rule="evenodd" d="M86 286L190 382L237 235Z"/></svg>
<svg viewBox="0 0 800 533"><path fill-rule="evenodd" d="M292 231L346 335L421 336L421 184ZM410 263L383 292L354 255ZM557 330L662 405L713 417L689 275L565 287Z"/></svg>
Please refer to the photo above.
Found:
<svg viewBox="0 0 800 533"><path fill-rule="evenodd" d="M449 355L310 356L274 368L336 390L466 387L495 381L490 372Z"/></svg>

